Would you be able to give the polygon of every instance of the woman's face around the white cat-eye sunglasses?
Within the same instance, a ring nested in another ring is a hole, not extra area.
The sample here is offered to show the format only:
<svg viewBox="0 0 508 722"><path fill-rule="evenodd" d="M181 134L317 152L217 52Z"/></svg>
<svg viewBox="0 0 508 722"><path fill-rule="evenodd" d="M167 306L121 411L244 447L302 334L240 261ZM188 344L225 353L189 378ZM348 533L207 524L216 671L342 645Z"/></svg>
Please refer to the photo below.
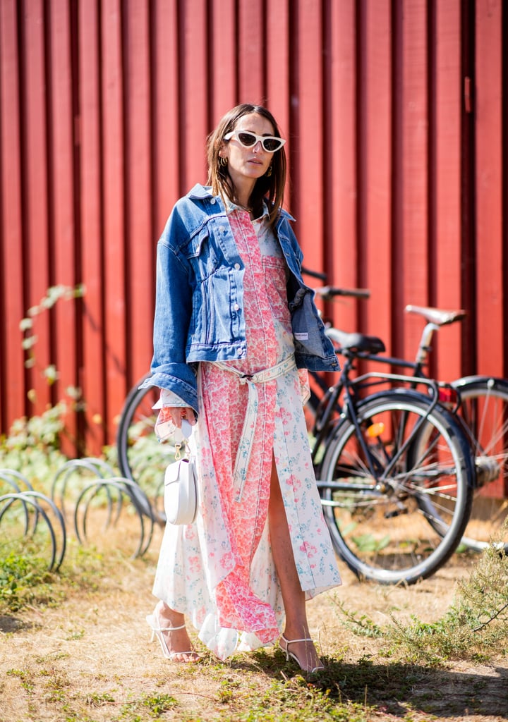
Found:
<svg viewBox="0 0 508 722"><path fill-rule="evenodd" d="M274 135L272 123L257 113L249 113L249 115L239 118L235 130L251 131L256 135ZM273 153L264 150L259 141L246 148L236 138L224 142L219 155L228 159L229 175L236 187L248 179L255 183L257 178L261 178L270 168L273 157Z"/></svg>

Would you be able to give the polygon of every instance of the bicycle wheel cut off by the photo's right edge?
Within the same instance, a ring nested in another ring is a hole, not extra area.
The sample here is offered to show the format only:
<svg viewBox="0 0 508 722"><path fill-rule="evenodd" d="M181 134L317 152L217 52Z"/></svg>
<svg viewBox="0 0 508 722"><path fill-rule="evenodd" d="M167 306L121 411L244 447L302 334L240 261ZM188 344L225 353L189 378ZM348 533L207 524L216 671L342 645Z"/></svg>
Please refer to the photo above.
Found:
<svg viewBox="0 0 508 722"><path fill-rule="evenodd" d="M481 552L496 544L508 554L508 381L469 376L455 381L460 415L475 457L476 486L462 542Z"/></svg>

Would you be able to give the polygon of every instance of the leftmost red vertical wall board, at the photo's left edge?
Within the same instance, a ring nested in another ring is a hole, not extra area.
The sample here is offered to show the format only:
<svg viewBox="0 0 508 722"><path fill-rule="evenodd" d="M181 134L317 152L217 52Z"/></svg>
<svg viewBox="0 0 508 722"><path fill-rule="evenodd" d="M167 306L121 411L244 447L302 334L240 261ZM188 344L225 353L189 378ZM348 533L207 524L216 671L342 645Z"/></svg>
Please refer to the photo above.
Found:
<svg viewBox="0 0 508 722"><path fill-rule="evenodd" d="M25 414L20 66L16 0L0 3L1 430Z"/></svg>

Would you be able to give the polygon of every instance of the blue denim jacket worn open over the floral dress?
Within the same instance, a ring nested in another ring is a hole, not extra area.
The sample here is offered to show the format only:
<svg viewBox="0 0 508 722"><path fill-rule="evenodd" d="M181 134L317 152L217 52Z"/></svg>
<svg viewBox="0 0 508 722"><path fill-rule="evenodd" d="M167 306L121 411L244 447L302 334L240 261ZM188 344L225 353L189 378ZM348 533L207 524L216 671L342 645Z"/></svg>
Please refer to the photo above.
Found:
<svg viewBox="0 0 508 722"><path fill-rule="evenodd" d="M290 273L290 309L296 364L337 371L339 363L316 305L301 277L302 253L284 210L275 233ZM152 376L143 386L168 388L197 408L199 361L246 357L244 264L225 206L197 185L177 201L158 241Z"/></svg>

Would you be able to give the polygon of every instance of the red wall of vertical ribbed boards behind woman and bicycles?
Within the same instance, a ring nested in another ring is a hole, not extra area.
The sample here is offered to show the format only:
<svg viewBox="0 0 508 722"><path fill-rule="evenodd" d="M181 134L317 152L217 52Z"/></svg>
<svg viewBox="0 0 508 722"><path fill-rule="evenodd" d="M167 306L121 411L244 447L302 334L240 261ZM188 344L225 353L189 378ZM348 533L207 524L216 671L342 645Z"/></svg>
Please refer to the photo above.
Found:
<svg viewBox="0 0 508 722"><path fill-rule="evenodd" d="M507 46L501 0L0 0L1 428L75 386L77 451L113 440L150 364L155 241L246 100L288 138L306 265L371 289L337 325L413 355L406 303L464 307L434 372L507 376ZM81 283L25 367L21 318Z"/></svg>

